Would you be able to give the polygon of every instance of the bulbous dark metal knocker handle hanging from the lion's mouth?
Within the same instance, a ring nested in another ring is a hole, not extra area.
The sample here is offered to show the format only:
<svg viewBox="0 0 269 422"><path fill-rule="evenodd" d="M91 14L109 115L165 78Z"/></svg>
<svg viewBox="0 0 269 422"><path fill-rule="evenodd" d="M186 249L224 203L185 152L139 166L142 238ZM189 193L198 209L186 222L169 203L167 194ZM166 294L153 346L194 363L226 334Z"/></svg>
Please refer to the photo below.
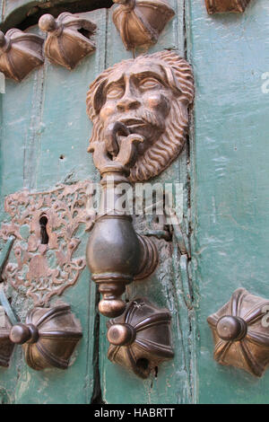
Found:
<svg viewBox="0 0 269 422"><path fill-rule="evenodd" d="M120 146L117 136L125 136ZM105 139L105 145L99 143L91 148L94 163L102 175L102 197L86 259L91 278L103 295L99 310L111 318L126 308L120 298L126 285L134 278L142 279L152 274L158 263L158 252L151 239L135 233L132 217L117 209L117 186L120 183L132 186L126 176L134 163L135 147L143 143L143 137L131 134L125 125L116 122L108 127Z"/></svg>

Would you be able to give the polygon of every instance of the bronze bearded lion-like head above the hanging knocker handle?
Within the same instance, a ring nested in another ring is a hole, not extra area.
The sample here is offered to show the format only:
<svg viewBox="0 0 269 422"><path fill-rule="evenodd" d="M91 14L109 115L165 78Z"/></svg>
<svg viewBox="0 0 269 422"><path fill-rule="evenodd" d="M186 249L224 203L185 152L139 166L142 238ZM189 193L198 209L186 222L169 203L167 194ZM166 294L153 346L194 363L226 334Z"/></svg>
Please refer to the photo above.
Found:
<svg viewBox="0 0 269 422"><path fill-rule="evenodd" d="M123 123L143 136L130 180L147 180L166 169L182 149L194 81L186 60L174 52L125 60L105 70L87 96L93 121L90 144L104 142L111 124ZM118 144L124 142L119 136Z"/></svg>

